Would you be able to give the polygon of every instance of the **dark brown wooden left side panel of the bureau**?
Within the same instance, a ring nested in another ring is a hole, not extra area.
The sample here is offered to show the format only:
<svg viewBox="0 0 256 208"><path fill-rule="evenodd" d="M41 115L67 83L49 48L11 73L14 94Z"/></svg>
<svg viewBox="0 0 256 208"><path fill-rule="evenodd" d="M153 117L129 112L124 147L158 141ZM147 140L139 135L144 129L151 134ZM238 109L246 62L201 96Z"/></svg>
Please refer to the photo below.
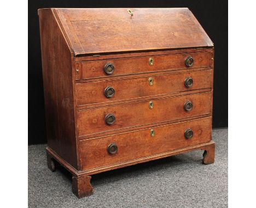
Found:
<svg viewBox="0 0 256 208"><path fill-rule="evenodd" d="M77 168L72 53L53 10L40 10L39 23L48 145Z"/></svg>

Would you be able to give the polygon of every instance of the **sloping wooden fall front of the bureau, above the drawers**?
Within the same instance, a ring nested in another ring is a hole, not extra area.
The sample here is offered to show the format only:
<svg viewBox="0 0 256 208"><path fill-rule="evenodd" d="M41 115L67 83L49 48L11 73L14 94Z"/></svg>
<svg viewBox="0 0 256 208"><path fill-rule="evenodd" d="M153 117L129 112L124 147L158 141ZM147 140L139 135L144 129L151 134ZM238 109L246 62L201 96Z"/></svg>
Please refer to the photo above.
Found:
<svg viewBox="0 0 256 208"><path fill-rule="evenodd" d="M50 10L74 56L213 47L188 8Z"/></svg>

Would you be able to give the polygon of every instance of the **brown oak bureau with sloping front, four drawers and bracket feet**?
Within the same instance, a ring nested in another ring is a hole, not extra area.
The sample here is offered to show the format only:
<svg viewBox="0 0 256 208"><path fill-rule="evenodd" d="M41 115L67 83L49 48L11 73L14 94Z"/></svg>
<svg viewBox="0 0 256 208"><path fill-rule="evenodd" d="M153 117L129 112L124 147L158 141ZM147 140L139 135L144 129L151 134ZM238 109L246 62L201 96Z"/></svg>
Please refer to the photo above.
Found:
<svg viewBox="0 0 256 208"><path fill-rule="evenodd" d="M213 43L188 8L39 9L48 167L91 175L205 150Z"/></svg>

